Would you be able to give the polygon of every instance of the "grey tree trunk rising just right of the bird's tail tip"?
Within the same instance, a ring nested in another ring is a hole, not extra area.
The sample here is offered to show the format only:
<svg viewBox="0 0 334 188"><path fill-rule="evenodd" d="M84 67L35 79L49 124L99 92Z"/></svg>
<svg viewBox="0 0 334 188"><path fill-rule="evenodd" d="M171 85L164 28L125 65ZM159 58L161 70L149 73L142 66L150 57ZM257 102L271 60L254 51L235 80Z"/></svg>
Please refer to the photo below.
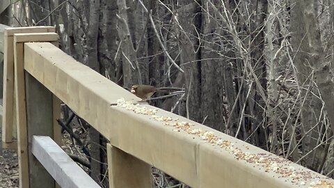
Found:
<svg viewBox="0 0 334 188"><path fill-rule="evenodd" d="M196 15L198 4L192 0L180 1L178 21L180 22L179 45L181 65L186 80L186 117L199 123L203 121L201 113L201 62L198 51L196 29L200 28L200 19ZM197 28L194 28L194 26ZM200 32L198 32L200 33Z"/></svg>

